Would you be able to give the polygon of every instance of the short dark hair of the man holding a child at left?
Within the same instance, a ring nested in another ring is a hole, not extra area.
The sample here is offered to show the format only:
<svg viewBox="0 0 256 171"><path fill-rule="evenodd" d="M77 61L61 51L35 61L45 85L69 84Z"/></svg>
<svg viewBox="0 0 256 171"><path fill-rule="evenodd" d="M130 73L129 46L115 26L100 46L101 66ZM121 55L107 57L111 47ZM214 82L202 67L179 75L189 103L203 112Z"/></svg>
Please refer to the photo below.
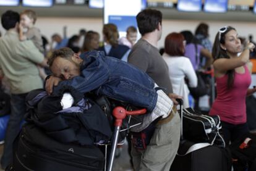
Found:
<svg viewBox="0 0 256 171"><path fill-rule="evenodd" d="M1 16L2 27L4 27L4 29L6 30L14 28L16 23L19 23L19 22L20 22L20 14L13 10L7 10Z"/></svg>

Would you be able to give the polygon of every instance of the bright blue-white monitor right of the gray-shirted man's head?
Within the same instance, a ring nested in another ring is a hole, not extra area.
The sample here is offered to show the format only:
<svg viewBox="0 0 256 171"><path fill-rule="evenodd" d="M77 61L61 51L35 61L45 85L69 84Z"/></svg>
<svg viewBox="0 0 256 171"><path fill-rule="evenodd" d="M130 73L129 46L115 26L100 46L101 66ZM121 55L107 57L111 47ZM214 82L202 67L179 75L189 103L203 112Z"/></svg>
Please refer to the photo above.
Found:
<svg viewBox="0 0 256 171"><path fill-rule="evenodd" d="M179 0L177 10L186 12L198 12L202 10L202 0Z"/></svg>

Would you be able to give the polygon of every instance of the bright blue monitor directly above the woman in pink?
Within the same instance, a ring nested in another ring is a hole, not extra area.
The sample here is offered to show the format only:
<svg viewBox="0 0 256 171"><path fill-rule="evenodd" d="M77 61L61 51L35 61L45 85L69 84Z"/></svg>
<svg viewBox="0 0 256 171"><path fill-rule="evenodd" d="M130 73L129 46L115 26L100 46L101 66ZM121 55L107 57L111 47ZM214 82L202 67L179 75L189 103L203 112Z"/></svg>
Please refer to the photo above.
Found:
<svg viewBox="0 0 256 171"><path fill-rule="evenodd" d="M228 0L205 0L203 10L205 12L227 12Z"/></svg>

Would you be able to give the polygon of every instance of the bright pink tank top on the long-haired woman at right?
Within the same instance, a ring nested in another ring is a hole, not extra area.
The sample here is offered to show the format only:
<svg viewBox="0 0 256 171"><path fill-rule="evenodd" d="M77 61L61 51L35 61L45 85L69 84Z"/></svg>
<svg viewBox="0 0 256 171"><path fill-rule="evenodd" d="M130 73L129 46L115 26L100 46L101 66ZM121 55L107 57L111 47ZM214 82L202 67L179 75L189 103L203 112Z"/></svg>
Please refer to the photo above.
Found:
<svg viewBox="0 0 256 171"><path fill-rule="evenodd" d="M234 125L247 121L245 98L252 78L246 65L244 69L245 73L234 73L234 85L229 90L227 74L216 78L217 98L213 102L210 115L220 115L222 121Z"/></svg>

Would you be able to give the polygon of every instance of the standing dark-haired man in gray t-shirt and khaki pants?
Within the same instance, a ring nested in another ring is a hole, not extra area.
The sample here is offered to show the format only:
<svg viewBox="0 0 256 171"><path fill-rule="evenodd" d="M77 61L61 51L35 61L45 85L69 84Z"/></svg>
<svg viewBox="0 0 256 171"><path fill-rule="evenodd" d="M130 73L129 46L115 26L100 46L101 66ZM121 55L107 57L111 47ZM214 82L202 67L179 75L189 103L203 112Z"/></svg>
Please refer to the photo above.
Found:
<svg viewBox="0 0 256 171"><path fill-rule="evenodd" d="M161 88L165 88L174 104L176 98L173 94L171 80L168 75L168 65L158 52L157 44L162 33L162 14L159 10L145 9L137 17L142 38L130 51L128 62L148 73ZM132 145L131 155L134 170L169 170L179 147L181 121L177 112L156 123L156 128L150 143L145 150L136 149Z"/></svg>

